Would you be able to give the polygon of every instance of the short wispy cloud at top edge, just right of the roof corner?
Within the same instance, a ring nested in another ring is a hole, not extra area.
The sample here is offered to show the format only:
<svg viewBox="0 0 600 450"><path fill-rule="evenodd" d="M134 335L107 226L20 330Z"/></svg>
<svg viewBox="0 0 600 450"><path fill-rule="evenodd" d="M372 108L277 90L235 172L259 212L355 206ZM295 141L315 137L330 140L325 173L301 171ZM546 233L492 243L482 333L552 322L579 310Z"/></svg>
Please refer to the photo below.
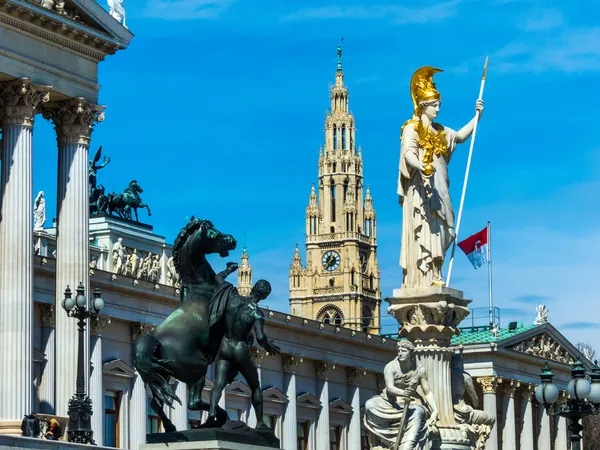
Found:
<svg viewBox="0 0 600 450"><path fill-rule="evenodd" d="M147 17L165 20L212 19L227 10L235 0L150 0Z"/></svg>

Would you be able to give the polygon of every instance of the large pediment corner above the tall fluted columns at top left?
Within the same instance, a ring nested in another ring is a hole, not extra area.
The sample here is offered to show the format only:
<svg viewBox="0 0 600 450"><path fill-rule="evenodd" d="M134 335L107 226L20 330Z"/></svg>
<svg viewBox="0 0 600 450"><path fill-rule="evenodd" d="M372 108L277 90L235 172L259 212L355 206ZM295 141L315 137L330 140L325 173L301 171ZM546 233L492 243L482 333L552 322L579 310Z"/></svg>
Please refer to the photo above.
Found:
<svg viewBox="0 0 600 450"><path fill-rule="evenodd" d="M97 59L133 38L94 0L0 0L0 22Z"/></svg>

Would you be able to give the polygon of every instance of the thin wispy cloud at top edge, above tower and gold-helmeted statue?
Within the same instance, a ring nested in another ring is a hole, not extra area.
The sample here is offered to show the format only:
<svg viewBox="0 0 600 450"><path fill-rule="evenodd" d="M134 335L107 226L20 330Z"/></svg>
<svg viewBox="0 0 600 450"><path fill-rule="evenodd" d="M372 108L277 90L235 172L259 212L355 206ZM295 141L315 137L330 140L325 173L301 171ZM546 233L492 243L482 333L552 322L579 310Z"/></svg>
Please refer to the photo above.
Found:
<svg viewBox="0 0 600 450"><path fill-rule="evenodd" d="M438 22L456 14L463 0L450 0L423 8L396 5L338 6L306 8L295 11L283 20L388 19L398 25Z"/></svg>

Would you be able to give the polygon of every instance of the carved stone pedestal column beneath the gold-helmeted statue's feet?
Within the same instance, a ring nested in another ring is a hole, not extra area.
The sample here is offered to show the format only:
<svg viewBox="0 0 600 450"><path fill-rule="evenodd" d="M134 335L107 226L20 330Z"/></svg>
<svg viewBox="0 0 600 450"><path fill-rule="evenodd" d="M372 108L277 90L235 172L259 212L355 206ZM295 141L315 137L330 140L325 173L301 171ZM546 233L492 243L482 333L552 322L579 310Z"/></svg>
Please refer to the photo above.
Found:
<svg viewBox="0 0 600 450"><path fill-rule="evenodd" d="M470 449L474 442L454 420L450 339L460 333L458 325L469 315L471 300L464 299L461 291L442 286L394 289L394 296L386 300L388 312L401 326L400 336L415 345L417 365L427 371L438 405L440 435L433 448Z"/></svg>

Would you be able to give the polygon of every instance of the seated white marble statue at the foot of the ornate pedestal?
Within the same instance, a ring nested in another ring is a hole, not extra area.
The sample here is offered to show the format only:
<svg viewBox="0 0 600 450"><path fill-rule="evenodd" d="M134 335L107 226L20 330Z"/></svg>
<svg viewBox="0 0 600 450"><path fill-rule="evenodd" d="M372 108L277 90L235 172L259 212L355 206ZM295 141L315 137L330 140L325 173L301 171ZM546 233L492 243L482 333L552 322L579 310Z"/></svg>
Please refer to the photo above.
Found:
<svg viewBox="0 0 600 450"><path fill-rule="evenodd" d="M415 347L398 342L398 356L384 370L385 389L365 403L364 425L373 450L394 447L400 434L401 450L428 450L438 419L438 406L429 389L427 373L416 365ZM425 403L427 408L423 406ZM399 430L403 416L406 420Z"/></svg>

